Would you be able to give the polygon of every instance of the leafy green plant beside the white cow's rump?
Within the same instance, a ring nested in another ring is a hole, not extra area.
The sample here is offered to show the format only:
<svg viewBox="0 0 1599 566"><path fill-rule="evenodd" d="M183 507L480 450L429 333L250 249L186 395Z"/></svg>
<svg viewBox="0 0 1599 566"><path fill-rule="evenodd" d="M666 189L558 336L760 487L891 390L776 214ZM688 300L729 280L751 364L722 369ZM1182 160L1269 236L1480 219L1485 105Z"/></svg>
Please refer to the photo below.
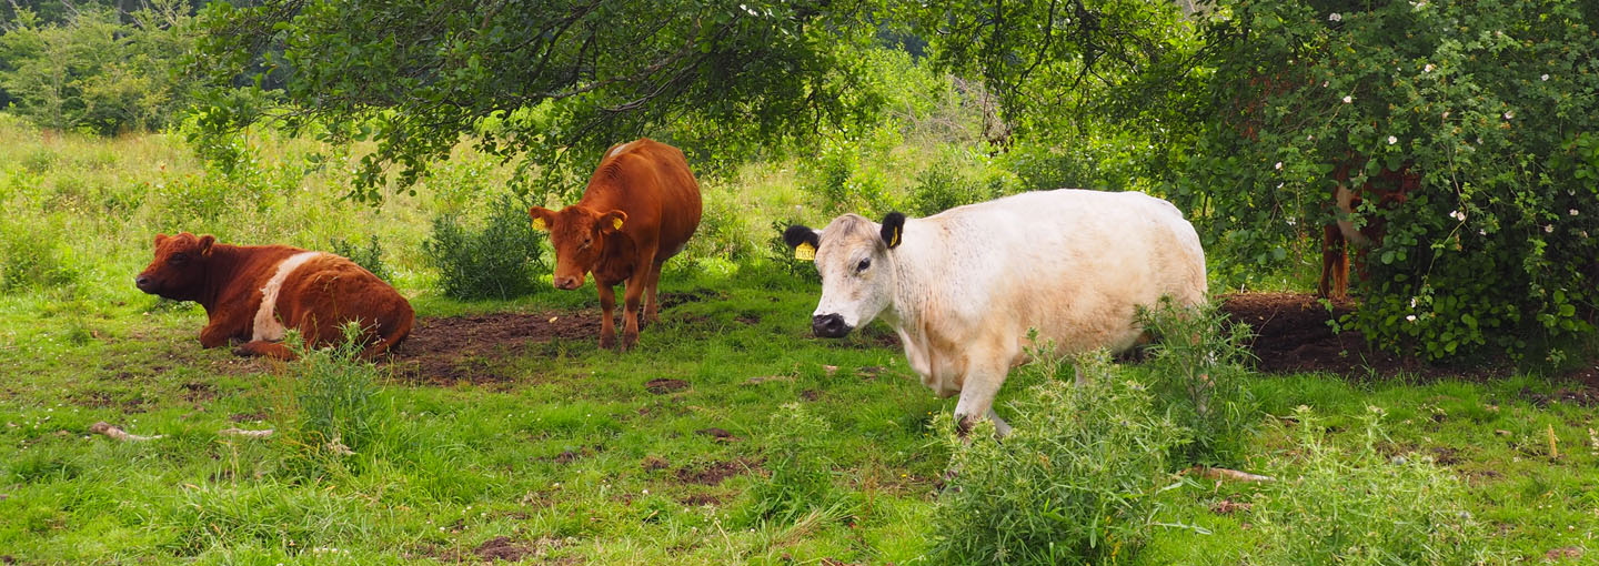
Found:
<svg viewBox="0 0 1599 566"><path fill-rule="evenodd" d="M1154 337L1143 368L1158 406L1193 438L1172 454L1175 464L1239 464L1260 422L1260 405L1244 387L1249 326L1228 323L1215 301L1185 307L1170 297L1140 307L1138 325Z"/></svg>

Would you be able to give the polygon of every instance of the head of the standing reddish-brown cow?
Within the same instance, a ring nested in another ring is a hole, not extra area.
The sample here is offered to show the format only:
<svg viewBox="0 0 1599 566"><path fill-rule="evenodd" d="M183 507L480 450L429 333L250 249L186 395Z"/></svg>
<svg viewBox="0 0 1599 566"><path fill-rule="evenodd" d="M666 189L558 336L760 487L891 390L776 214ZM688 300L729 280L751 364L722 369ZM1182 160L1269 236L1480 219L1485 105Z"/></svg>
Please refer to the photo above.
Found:
<svg viewBox="0 0 1599 566"><path fill-rule="evenodd" d="M572 205L560 213L534 206L528 211L532 227L550 232L555 246L555 275L550 278L560 289L576 289L584 277L600 264L606 240L622 232L627 213L606 211Z"/></svg>

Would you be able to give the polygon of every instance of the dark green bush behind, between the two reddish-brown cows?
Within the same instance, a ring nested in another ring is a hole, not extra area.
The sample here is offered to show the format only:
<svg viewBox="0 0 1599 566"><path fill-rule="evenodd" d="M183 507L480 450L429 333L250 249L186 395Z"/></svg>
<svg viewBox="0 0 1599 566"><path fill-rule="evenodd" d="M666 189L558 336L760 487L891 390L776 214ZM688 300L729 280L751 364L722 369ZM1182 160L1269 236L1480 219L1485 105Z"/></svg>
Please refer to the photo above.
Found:
<svg viewBox="0 0 1599 566"><path fill-rule="evenodd" d="M508 195L489 205L481 229L456 216L433 217L433 235L422 254L438 270L438 286L456 299L510 299L536 289L534 273L544 270L540 233L528 208Z"/></svg>

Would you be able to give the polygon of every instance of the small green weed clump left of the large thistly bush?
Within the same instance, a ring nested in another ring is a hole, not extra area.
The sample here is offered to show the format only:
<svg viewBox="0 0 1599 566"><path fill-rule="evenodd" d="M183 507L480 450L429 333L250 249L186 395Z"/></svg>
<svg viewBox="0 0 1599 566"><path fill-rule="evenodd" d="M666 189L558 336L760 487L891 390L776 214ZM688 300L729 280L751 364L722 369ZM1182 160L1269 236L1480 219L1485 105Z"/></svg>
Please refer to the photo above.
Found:
<svg viewBox="0 0 1599 566"><path fill-rule="evenodd" d="M761 438L763 465L771 475L750 488L740 523L793 524L811 513L847 515L851 502L833 486L833 459L827 452L831 436L827 421L800 403L779 408Z"/></svg>

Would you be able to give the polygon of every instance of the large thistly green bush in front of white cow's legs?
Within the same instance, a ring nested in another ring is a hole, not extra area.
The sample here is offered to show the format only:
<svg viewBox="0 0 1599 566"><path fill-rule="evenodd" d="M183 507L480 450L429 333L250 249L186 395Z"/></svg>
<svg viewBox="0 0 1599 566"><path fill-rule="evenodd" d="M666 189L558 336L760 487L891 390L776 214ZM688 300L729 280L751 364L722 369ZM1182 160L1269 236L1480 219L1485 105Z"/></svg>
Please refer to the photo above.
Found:
<svg viewBox="0 0 1599 566"><path fill-rule="evenodd" d="M1004 441L988 421L969 444L953 422L943 425L958 475L934 512L932 563L1108 564L1148 540L1182 428L1103 352L1075 360L1083 385L1047 350L1035 360L1019 371L1047 381L1012 403L1015 428Z"/></svg>

